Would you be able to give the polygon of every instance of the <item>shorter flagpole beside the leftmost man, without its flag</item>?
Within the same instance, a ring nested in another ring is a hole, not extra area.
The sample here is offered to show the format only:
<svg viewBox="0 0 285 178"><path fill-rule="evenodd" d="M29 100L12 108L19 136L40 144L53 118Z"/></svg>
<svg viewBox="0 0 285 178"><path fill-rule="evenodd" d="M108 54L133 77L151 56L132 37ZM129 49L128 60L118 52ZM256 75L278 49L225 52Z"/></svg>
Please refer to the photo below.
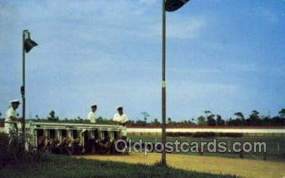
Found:
<svg viewBox="0 0 285 178"><path fill-rule="evenodd" d="M22 95L22 133L25 139L25 32L28 30L23 30L23 85L20 88Z"/></svg>

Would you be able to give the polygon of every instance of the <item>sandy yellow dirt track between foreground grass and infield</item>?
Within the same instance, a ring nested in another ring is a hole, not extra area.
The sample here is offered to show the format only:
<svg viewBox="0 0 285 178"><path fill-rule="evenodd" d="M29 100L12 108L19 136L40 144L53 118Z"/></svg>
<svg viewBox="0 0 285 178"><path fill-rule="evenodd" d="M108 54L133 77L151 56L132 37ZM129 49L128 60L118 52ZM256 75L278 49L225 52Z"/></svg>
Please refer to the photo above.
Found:
<svg viewBox="0 0 285 178"><path fill-rule="evenodd" d="M160 153L130 153L130 155L83 155L80 158L101 161L114 161L136 165L155 165L160 158ZM236 158L221 158L200 155L166 154L167 164L175 169L191 172L205 172L210 174L231 174L238 177L268 178L284 177L285 163L263 160L249 160ZM175 176L178 177L178 176Z"/></svg>

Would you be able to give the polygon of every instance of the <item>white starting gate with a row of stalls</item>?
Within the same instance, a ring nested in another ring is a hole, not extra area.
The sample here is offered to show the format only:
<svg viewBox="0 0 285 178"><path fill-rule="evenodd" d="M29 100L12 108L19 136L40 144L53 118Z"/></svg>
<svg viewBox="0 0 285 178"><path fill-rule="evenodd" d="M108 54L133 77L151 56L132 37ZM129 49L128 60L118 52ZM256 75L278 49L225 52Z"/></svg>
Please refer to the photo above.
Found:
<svg viewBox="0 0 285 178"><path fill-rule="evenodd" d="M37 148L37 139L44 136L47 139L62 141L63 137L69 139L80 139L82 146L86 139L104 139L109 136L113 141L116 134L119 134L126 127L121 125L98 125L92 123L71 123L71 122L35 122L30 121L25 125L25 134L32 146Z"/></svg>

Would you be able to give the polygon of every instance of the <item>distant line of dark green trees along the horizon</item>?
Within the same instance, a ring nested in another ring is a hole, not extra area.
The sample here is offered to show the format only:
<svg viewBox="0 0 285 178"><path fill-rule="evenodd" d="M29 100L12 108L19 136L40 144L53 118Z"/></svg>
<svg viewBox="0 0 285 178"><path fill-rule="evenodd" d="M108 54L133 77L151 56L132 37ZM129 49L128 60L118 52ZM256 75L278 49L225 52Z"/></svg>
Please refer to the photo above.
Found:
<svg viewBox="0 0 285 178"><path fill-rule="evenodd" d="M234 117L229 119L222 118L219 114L214 114L210 110L205 110L205 115L200 115L196 120L192 118L191 120L181 120L175 121L169 117L166 120L167 125L176 125L176 126L285 126L285 108L279 110L279 115L270 117L270 116L260 116L260 113L257 110L253 110L248 117L245 117L243 113L236 112ZM130 120L128 125L133 126L159 126L161 122L159 119L154 118L150 120L150 114L147 112L142 112L142 118L140 120ZM30 120L37 120L41 122L78 122L78 123L87 123L88 121L81 118L75 117L73 119L65 118L59 120L59 116L56 116L54 110L51 110L47 118L40 118L38 115L35 115L35 118ZM150 121L149 121L150 120ZM110 118L97 118L98 124L114 124Z"/></svg>

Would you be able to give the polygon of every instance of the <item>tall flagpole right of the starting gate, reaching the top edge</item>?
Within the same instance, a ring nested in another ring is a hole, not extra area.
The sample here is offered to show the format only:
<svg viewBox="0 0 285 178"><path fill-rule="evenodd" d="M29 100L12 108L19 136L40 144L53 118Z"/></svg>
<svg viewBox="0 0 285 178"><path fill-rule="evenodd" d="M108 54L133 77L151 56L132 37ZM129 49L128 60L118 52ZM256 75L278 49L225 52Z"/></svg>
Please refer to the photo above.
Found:
<svg viewBox="0 0 285 178"><path fill-rule="evenodd" d="M166 83L165 83L165 34L166 34L165 0L162 0L162 166L166 166Z"/></svg>

